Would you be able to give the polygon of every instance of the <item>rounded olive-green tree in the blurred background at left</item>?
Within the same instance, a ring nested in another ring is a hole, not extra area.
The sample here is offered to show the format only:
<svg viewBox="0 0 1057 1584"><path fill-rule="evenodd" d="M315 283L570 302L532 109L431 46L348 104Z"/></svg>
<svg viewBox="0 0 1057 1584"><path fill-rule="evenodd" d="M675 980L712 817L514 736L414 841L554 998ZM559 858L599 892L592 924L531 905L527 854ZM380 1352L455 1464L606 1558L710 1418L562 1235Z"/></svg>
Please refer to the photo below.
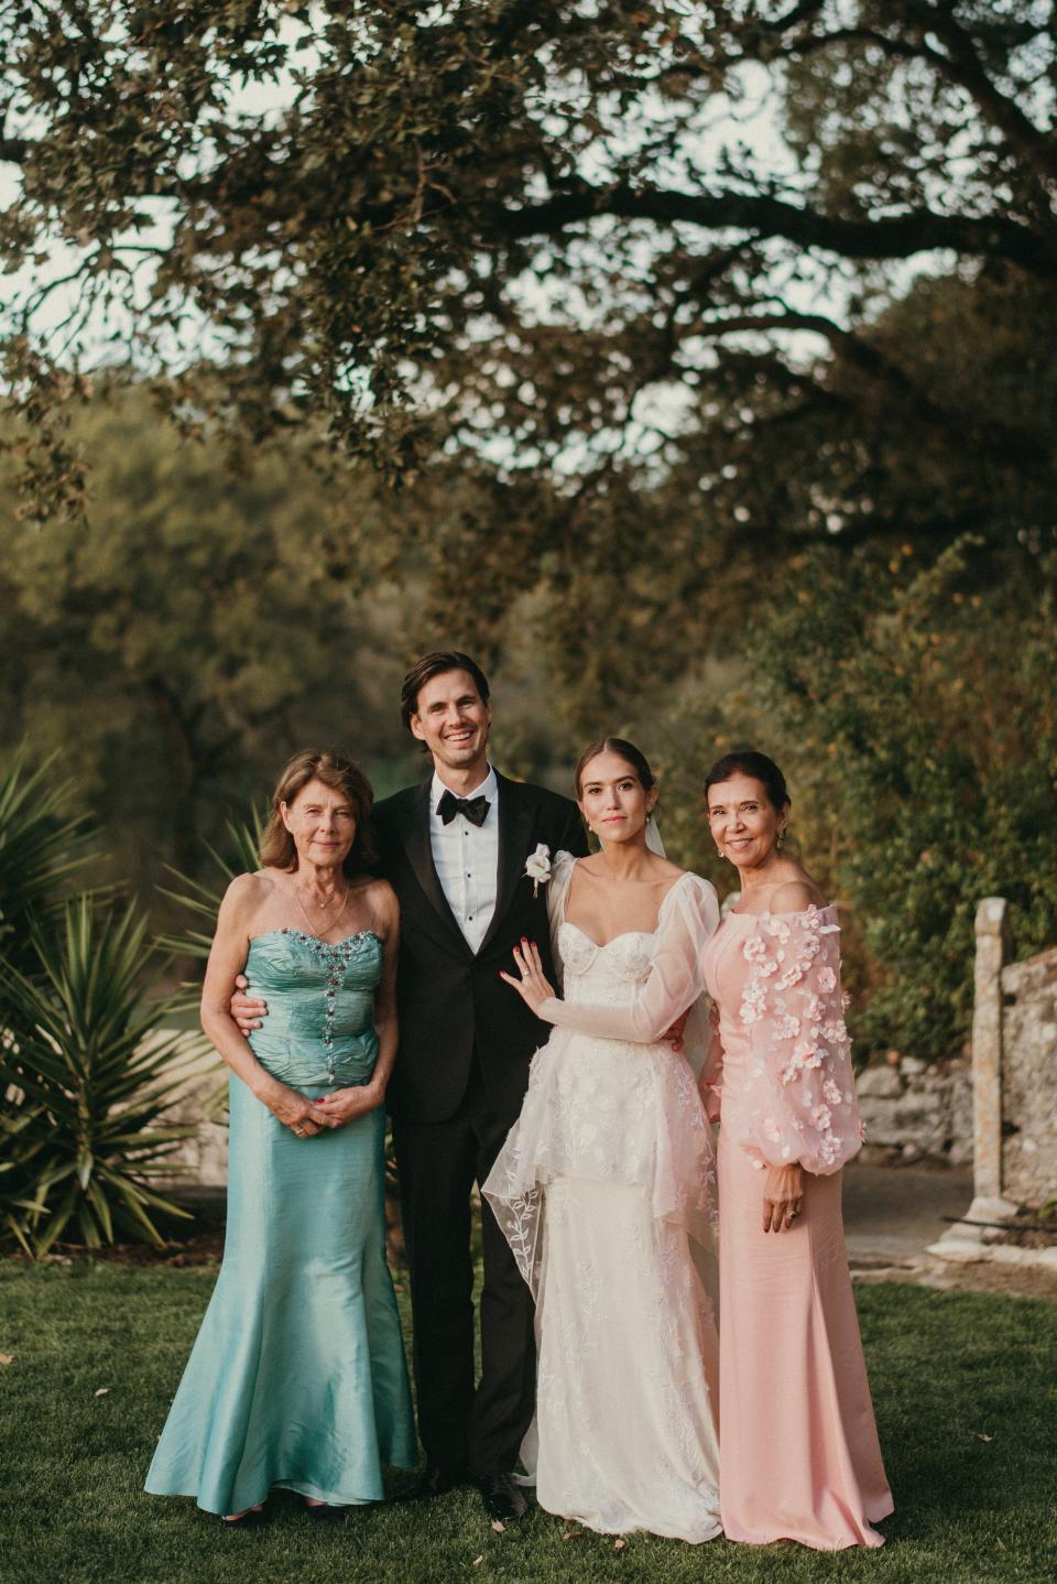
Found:
<svg viewBox="0 0 1057 1584"><path fill-rule="evenodd" d="M52 776L76 776L112 878L193 870L199 838L267 798L299 748L400 760L391 599L348 578L293 445L233 472L136 388L82 413L76 439L87 521L30 526L0 478L0 743L30 733L35 760L54 751ZM356 512L369 531L367 488Z"/></svg>

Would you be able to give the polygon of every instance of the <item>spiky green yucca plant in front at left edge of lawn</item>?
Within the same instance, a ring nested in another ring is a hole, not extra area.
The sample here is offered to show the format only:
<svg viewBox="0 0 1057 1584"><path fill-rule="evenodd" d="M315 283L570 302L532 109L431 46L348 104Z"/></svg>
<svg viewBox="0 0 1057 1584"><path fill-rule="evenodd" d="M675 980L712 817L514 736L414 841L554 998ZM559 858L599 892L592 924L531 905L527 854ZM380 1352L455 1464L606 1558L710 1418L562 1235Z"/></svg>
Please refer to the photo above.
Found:
<svg viewBox="0 0 1057 1584"><path fill-rule="evenodd" d="M0 961L19 1034L0 1049L9 1171L8 1232L35 1255L59 1240L98 1248L161 1242L155 1217L187 1212L155 1193L193 1128L163 1123L198 1036L166 1033L171 1001L144 990L146 919L68 901L59 930L28 925L35 961Z"/></svg>

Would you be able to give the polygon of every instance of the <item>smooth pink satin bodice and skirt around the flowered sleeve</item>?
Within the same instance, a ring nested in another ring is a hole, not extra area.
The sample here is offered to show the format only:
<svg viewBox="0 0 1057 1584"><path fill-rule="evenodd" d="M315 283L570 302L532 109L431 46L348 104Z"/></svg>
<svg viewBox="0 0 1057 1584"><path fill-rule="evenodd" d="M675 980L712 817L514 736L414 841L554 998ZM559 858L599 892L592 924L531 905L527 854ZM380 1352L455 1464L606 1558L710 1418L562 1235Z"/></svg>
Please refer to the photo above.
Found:
<svg viewBox="0 0 1057 1584"><path fill-rule="evenodd" d="M829 909L823 911L823 916ZM797 925L805 914L785 916ZM816 914L816 917L820 917ZM704 949L704 974L720 1009L712 1079L722 1085L720 1183L720 1502L728 1540L796 1540L820 1551L880 1546L872 1527L892 1511L873 1422L840 1217L840 1172L805 1175L801 1217L788 1232L761 1229L763 1153L748 1140L797 1134L797 1104L771 1085L760 1131L752 1064L761 1058L767 1001L745 992L772 950L774 920L729 914ZM791 938L791 936L790 936ZM831 935L835 942L837 936ZM758 946L756 942L763 942ZM748 950L745 947L748 946ZM807 974L835 961L818 952ZM769 976L775 977L775 976ZM758 979L755 980L758 982ZM804 979L797 979L802 988ZM815 988L828 1000L826 974ZM831 1012L829 1000L828 1011ZM753 1017L753 1012L763 1012ZM780 1015L786 1015L782 1012ZM829 1019L832 1020L832 1017ZM779 1031L775 1030L775 1038ZM840 1058L847 1045L831 1041ZM829 1063L826 1063L829 1068ZM779 1066L769 1068L779 1071ZM818 1071L813 1080L824 1082ZM834 1074L834 1082L845 1074ZM799 1079L797 1079L799 1080ZM785 1110L775 1114L775 1107ZM850 1118L845 1102L842 1114ZM847 1128L842 1133L848 1131ZM767 1152L771 1155L771 1152ZM799 1152L796 1152L799 1155Z"/></svg>

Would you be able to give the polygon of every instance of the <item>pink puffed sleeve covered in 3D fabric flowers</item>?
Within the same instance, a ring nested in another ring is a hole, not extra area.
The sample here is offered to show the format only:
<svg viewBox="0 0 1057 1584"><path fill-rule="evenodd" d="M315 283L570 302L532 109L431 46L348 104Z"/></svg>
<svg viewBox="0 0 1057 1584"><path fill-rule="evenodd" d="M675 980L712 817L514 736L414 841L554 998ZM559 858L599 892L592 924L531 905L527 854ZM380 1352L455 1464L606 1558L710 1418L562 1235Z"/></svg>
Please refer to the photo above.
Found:
<svg viewBox="0 0 1057 1584"><path fill-rule="evenodd" d="M837 1172L862 1144L840 993L835 908L763 914L742 946L750 1060L741 1147L758 1166Z"/></svg>

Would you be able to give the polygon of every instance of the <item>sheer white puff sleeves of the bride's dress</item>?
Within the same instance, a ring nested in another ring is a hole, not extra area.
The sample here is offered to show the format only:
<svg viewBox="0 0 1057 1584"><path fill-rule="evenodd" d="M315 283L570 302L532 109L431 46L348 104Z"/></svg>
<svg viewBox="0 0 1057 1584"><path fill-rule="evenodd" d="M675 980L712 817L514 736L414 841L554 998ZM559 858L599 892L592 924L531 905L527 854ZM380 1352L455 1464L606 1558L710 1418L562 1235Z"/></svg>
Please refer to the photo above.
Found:
<svg viewBox="0 0 1057 1584"><path fill-rule="evenodd" d="M560 898L555 898L552 933L559 920ZM543 1003L540 1017L559 1028L574 1028L601 1039L657 1044L703 993L701 950L718 922L720 904L712 885L698 874L684 874L661 903L650 974L630 1006L590 1006L552 998Z"/></svg>

